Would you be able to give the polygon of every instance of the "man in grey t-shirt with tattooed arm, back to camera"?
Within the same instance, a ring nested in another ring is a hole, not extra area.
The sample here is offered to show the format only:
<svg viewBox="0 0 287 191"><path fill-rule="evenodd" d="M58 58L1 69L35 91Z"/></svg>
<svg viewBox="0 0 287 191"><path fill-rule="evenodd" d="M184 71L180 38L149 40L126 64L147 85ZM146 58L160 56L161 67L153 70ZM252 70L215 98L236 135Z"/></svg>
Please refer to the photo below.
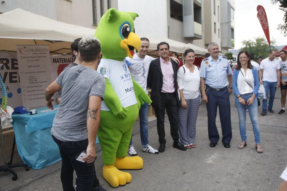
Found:
<svg viewBox="0 0 287 191"><path fill-rule="evenodd" d="M79 41L82 64L69 67L46 88L46 105L53 109L53 94L62 89L61 103L55 115L51 134L62 158L63 190L104 190L95 176L95 142L104 98L105 79L96 71L101 52L94 37Z"/></svg>

